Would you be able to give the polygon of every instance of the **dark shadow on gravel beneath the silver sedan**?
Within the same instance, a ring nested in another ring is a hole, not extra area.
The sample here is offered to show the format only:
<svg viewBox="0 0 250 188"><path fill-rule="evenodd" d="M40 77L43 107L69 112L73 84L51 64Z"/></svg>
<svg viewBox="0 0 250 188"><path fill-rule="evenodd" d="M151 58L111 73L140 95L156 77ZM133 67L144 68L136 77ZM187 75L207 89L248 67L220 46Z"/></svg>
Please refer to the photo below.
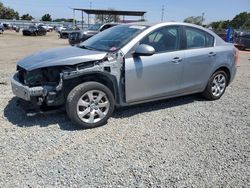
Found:
<svg viewBox="0 0 250 188"><path fill-rule="evenodd" d="M194 101L203 101L204 99L199 95L189 95L185 97L178 97L173 99L160 100L156 102L149 102L130 107L118 108L112 115L115 119L132 117L136 114L151 112L166 108L172 108L175 106L185 105ZM65 111L59 111L51 114L38 114L33 117L28 117L24 111L17 105L17 98L12 98L4 109L4 118L10 123L18 127L48 127L53 124L58 124L60 129L66 131L77 131L80 130L75 126L70 119L67 117Z"/></svg>

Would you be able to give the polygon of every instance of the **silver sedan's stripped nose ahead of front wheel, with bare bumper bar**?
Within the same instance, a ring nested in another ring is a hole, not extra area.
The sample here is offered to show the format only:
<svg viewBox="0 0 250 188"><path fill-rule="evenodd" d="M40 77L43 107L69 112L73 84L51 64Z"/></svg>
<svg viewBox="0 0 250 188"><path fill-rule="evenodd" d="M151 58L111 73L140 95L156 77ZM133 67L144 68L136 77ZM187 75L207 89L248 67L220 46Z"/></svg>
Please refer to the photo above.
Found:
<svg viewBox="0 0 250 188"><path fill-rule="evenodd" d="M63 73L60 67L26 71L17 67L11 78L13 93L25 111L47 111L63 105Z"/></svg>

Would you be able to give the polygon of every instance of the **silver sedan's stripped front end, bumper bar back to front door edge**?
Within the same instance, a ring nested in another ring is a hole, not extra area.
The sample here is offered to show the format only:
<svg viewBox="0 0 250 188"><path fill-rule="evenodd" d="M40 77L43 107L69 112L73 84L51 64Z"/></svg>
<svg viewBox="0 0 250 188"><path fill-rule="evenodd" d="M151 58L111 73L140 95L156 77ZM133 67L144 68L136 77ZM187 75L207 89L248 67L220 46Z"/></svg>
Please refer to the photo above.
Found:
<svg viewBox="0 0 250 188"><path fill-rule="evenodd" d="M119 79L121 64L117 62L120 59L120 56L108 54L101 60L30 71L17 66L17 73L11 78L12 91L27 115L57 110L64 107L68 84L80 80L81 76L106 72Z"/></svg>

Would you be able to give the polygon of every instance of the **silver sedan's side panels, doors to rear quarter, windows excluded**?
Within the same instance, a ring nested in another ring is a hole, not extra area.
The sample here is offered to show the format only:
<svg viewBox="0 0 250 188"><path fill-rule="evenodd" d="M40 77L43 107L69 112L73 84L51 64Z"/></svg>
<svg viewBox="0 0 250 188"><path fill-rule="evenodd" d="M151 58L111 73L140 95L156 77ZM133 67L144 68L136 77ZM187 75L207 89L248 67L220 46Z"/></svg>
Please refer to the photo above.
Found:
<svg viewBox="0 0 250 188"><path fill-rule="evenodd" d="M212 31L186 23L150 24L151 27L135 37L123 49L125 59L126 103L137 104L162 98L171 98L202 92L211 75L220 67L227 67L233 79L234 46L224 42ZM214 36L214 47L187 49L175 52L154 54L150 57L134 58L129 56L131 49L152 31L172 25L190 26L204 30ZM216 55L210 56L213 52ZM182 60L173 63L175 57Z"/></svg>

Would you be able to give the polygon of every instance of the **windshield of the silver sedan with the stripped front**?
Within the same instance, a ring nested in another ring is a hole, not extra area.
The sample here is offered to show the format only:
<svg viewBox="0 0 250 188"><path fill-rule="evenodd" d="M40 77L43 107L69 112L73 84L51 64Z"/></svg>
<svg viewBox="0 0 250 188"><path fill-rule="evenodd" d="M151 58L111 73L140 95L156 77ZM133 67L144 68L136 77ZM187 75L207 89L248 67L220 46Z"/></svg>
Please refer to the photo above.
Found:
<svg viewBox="0 0 250 188"><path fill-rule="evenodd" d="M146 28L135 25L115 26L82 42L79 47L107 52L117 51Z"/></svg>

